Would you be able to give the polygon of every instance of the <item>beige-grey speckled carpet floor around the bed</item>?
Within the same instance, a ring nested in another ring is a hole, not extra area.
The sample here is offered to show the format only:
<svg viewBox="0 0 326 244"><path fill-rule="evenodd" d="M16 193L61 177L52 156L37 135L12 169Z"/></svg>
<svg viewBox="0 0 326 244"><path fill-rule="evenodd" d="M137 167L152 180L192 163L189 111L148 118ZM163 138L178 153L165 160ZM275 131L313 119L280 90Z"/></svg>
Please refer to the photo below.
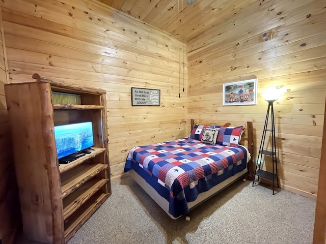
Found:
<svg viewBox="0 0 326 244"><path fill-rule="evenodd" d="M315 201L239 180L172 220L132 180L113 182L112 196L68 244L312 243Z"/></svg>

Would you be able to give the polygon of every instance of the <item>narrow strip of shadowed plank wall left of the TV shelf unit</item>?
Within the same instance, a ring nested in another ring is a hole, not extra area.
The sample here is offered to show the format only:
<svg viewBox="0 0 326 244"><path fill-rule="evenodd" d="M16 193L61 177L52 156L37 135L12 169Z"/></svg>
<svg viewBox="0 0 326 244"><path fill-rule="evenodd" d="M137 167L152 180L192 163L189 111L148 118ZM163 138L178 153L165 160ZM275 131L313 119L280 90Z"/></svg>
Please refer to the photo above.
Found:
<svg viewBox="0 0 326 244"><path fill-rule="evenodd" d="M15 241L20 210L4 90L9 76L1 12L0 27L0 240L7 244Z"/></svg>

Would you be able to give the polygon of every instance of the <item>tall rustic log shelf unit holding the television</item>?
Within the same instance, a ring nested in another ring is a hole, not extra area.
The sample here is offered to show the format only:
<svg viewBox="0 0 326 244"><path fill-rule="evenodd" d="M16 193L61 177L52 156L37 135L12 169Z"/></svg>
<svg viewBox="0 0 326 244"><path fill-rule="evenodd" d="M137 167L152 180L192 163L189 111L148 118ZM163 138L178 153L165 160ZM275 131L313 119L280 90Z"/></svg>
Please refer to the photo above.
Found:
<svg viewBox="0 0 326 244"><path fill-rule="evenodd" d="M105 90L34 74L6 84L6 101L24 236L66 243L111 195ZM51 91L80 95L82 104L52 104ZM92 121L90 154L59 164L54 127Z"/></svg>

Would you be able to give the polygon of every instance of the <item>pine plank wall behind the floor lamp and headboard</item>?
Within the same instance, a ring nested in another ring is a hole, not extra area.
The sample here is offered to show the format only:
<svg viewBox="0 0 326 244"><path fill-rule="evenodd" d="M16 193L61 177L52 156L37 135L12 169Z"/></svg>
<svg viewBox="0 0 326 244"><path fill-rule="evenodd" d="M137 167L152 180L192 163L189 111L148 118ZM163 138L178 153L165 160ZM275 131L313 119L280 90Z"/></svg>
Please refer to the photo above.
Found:
<svg viewBox="0 0 326 244"><path fill-rule="evenodd" d="M257 77L258 94L282 88L274 104L281 185L311 198L326 94L325 7L324 0L260 0L188 42L188 118L252 120L259 147L267 102L258 95L257 105L223 107L222 84Z"/></svg>

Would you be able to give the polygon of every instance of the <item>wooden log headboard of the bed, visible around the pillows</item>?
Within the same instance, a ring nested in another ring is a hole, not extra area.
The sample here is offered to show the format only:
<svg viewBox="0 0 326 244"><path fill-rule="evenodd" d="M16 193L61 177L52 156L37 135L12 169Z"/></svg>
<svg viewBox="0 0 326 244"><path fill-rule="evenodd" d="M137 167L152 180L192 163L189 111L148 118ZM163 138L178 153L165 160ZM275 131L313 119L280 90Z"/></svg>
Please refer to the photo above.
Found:
<svg viewBox="0 0 326 244"><path fill-rule="evenodd" d="M194 128L195 125L195 119L191 119L190 120L191 123L191 129L192 130ZM223 126L230 126L231 123L226 123ZM247 141L248 141L248 151L251 155L251 159L247 164L247 169L248 169L248 180L254 180L255 178L255 165L254 165L254 161L253 161L253 156L254 156L254 129L253 129L253 122L252 121L247 121L247 128L246 128L246 134L247 134Z"/></svg>

